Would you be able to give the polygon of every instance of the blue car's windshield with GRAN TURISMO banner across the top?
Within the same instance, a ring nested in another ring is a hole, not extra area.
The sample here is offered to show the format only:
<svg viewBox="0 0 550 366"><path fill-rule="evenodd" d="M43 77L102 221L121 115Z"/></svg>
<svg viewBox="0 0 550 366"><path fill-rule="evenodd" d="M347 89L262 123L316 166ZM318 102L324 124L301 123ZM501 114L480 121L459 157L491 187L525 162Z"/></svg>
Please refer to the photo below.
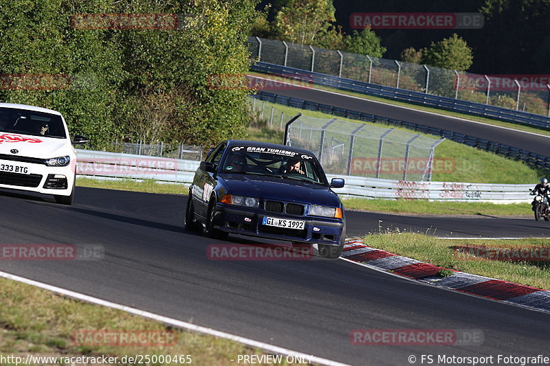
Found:
<svg viewBox="0 0 550 366"><path fill-rule="evenodd" d="M223 161L221 172L276 176L327 185L325 174L315 157L285 149L232 147Z"/></svg>

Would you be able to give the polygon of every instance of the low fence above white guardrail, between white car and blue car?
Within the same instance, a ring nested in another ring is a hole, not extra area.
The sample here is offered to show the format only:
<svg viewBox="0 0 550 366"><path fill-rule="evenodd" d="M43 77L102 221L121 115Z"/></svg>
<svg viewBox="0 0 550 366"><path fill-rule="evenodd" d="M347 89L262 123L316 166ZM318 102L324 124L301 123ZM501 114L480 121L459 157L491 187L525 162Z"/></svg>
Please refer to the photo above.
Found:
<svg viewBox="0 0 550 366"><path fill-rule="evenodd" d="M146 155L149 157L166 157L171 159L197 160L201 161L203 147L184 144L137 144L129 142L113 142L104 146L83 146L86 150L100 150L108 152L122 152L124 154Z"/></svg>

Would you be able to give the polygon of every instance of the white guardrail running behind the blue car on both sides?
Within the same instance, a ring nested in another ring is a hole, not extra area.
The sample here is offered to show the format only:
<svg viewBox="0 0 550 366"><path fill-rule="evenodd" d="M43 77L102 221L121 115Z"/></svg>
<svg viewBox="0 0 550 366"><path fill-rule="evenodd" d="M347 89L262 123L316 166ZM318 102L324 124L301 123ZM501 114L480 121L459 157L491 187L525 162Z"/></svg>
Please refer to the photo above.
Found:
<svg viewBox="0 0 550 366"><path fill-rule="evenodd" d="M76 173L89 178L154 180L188 185L192 183L197 168L199 161L77 150ZM334 189L340 196L358 198L516 203L531 201L528 191L533 187L529 184L414 182L333 174L327 176L329 179L338 177L346 180L343 188Z"/></svg>

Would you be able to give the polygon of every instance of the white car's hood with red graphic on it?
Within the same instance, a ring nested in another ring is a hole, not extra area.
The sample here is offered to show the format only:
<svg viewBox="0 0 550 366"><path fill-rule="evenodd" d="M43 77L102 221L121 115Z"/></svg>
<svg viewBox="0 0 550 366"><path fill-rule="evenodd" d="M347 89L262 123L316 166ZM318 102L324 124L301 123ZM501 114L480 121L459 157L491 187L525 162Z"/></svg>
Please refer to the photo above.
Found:
<svg viewBox="0 0 550 366"><path fill-rule="evenodd" d="M14 149L17 152L12 152ZM74 155L74 152L68 139L0 132L0 154L46 159Z"/></svg>

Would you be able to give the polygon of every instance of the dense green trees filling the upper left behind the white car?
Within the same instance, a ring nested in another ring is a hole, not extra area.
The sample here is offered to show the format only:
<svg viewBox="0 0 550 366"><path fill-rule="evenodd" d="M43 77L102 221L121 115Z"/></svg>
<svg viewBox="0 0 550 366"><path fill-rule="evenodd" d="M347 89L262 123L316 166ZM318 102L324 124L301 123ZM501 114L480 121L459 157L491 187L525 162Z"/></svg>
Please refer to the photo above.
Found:
<svg viewBox="0 0 550 366"><path fill-rule="evenodd" d="M3 1L0 73L65 74L70 85L0 90L0 100L56 109L93 144L146 138L215 144L245 134L245 90L208 87L244 73L258 1ZM179 29L81 29L75 14L192 14ZM155 125L153 134L144 133Z"/></svg>

